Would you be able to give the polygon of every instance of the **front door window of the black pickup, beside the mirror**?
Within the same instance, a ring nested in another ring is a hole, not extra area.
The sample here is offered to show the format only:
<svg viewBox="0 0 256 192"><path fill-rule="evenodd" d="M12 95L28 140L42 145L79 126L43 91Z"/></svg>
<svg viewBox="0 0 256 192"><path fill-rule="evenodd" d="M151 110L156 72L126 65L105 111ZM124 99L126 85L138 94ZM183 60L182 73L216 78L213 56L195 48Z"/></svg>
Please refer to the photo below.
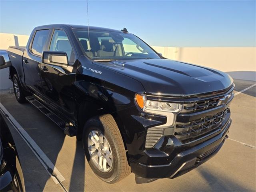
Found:
<svg viewBox="0 0 256 192"><path fill-rule="evenodd" d="M72 46L70 44L70 41L68 40L68 36L62 30L54 30L49 51L66 52L69 62L74 62L74 52L72 50Z"/></svg>

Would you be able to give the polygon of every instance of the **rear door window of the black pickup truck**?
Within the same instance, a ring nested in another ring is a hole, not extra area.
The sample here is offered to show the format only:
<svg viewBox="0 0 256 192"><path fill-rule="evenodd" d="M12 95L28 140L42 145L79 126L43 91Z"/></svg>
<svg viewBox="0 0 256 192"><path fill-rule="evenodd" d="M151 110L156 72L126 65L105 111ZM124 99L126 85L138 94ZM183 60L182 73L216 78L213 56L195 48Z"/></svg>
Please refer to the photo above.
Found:
<svg viewBox="0 0 256 192"><path fill-rule="evenodd" d="M32 53L41 56L43 52L44 45L46 43L49 30L39 30L36 31L36 34L33 39L31 51Z"/></svg>

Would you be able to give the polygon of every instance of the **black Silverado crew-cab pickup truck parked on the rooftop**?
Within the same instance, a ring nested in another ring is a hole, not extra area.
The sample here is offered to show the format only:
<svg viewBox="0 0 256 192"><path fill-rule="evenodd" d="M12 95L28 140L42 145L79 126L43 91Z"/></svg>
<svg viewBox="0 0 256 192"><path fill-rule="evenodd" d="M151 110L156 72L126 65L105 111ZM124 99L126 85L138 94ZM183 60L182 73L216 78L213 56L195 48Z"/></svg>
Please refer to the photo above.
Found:
<svg viewBox="0 0 256 192"><path fill-rule="evenodd" d="M82 139L108 183L175 178L214 156L228 137L232 78L169 60L123 30L36 27L7 50L18 102L30 102Z"/></svg>

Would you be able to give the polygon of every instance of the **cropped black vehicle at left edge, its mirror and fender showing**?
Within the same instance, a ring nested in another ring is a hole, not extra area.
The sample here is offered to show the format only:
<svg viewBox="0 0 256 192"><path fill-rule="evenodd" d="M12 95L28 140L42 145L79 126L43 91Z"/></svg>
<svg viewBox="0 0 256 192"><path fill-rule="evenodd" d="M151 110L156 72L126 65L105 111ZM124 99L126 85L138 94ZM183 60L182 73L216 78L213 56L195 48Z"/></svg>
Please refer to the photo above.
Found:
<svg viewBox="0 0 256 192"><path fill-rule="evenodd" d="M0 69L10 66L7 54L0 51ZM0 110L0 191L25 191L24 178L12 134Z"/></svg>

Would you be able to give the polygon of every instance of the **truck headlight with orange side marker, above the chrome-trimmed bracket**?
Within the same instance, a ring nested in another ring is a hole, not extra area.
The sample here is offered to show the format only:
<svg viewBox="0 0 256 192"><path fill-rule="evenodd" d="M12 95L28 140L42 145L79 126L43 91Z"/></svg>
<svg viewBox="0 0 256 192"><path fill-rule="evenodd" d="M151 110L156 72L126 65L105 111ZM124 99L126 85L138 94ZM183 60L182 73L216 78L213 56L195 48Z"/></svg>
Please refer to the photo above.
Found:
<svg viewBox="0 0 256 192"><path fill-rule="evenodd" d="M182 104L147 100L146 95L136 94L135 98L138 106L144 111L153 110L177 113L183 108Z"/></svg>

